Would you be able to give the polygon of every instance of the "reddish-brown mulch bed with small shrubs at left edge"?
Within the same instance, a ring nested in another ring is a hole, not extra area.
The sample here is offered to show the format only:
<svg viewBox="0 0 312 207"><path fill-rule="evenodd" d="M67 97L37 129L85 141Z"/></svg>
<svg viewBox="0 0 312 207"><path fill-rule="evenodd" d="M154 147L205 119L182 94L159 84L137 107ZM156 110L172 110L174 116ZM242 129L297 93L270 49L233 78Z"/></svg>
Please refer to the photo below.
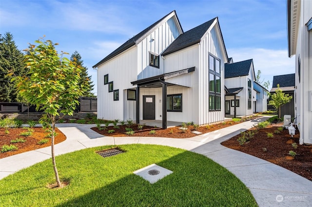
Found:
<svg viewBox="0 0 312 207"><path fill-rule="evenodd" d="M5 153L0 152L0 158L11 156L11 155L17 155L23 152L31 151L31 150L36 150L39 148L43 147L48 147L51 146L51 141L48 141L45 144L38 144L38 142L46 138L46 136L49 134L47 133L44 129L41 127L33 127L31 128L34 130L33 135L28 136L28 137L23 137L20 136L21 132L27 132L27 129L22 129L22 128L9 128L7 129L9 131L9 134L5 133L4 128L0 128L0 148L3 145L15 145L18 147L18 150L13 150L13 151L8 151ZM62 142L66 139L65 135L59 131L59 129L56 128L56 133L57 136L55 137L55 144ZM26 141L23 143L10 143L11 140L17 139L17 138L23 138ZM51 138L47 138L51 140Z"/></svg>

